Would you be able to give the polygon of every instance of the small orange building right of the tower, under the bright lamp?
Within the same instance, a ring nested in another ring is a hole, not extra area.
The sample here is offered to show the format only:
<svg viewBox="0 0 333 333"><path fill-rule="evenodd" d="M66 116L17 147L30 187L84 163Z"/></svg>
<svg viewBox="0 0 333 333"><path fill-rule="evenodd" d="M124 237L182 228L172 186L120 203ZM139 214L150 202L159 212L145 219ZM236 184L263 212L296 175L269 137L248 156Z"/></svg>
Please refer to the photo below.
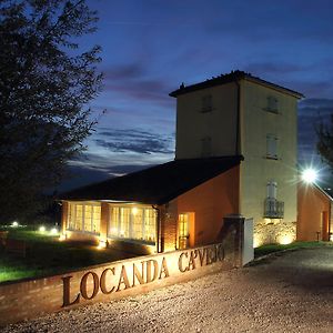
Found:
<svg viewBox="0 0 333 333"><path fill-rule="evenodd" d="M299 183L297 193L297 240L332 240L332 196L317 184L304 182Z"/></svg>

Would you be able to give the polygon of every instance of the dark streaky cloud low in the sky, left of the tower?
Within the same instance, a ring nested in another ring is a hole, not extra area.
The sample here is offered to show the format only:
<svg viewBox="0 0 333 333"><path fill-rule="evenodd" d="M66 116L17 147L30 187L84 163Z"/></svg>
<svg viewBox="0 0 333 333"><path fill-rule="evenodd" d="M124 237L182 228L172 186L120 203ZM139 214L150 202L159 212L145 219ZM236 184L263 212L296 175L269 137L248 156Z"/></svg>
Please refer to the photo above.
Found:
<svg viewBox="0 0 333 333"><path fill-rule="evenodd" d="M133 152L139 154L171 154L173 152L172 138L137 129L104 130L99 133L95 143L113 152Z"/></svg>

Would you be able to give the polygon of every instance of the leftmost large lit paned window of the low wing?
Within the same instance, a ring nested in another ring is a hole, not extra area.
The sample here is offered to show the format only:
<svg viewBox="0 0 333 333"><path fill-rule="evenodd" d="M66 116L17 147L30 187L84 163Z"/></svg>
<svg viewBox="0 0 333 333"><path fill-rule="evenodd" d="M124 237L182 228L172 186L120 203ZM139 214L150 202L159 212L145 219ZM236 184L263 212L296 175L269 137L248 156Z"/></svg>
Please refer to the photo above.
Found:
<svg viewBox="0 0 333 333"><path fill-rule="evenodd" d="M99 233L101 223L101 206L90 203L69 203L68 229Z"/></svg>

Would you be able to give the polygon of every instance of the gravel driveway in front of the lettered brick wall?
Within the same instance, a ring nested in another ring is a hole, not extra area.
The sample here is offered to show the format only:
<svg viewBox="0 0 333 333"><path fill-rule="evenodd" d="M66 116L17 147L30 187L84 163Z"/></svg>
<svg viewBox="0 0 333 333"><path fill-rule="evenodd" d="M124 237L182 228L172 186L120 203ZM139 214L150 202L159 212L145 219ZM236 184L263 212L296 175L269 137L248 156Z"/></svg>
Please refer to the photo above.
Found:
<svg viewBox="0 0 333 333"><path fill-rule="evenodd" d="M275 254L249 268L1 332L333 332L333 249Z"/></svg>

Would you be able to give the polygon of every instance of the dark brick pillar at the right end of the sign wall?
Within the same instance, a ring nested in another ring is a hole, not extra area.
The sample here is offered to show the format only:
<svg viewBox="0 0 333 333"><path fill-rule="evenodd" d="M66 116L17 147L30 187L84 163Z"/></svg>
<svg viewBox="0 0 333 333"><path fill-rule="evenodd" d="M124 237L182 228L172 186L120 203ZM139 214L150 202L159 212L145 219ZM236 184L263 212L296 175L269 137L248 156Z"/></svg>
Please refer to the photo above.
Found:
<svg viewBox="0 0 333 333"><path fill-rule="evenodd" d="M231 214L223 218L223 229L221 240L225 249L225 255L233 265L243 265L243 240L244 240L244 218L240 214Z"/></svg>

